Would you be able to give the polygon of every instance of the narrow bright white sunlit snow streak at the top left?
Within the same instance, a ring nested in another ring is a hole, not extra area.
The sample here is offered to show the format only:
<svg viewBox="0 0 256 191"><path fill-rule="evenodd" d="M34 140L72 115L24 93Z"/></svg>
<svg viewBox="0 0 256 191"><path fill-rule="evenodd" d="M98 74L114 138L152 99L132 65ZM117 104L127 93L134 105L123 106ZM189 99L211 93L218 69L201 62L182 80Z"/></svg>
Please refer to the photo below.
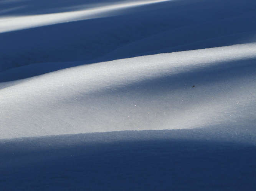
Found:
<svg viewBox="0 0 256 191"><path fill-rule="evenodd" d="M110 16L114 11L149 5L152 3L167 2L171 0L147 0L137 2L123 2L107 6L91 8L88 10L71 11L66 13L51 13L45 15L13 16L0 18L0 33L35 28L51 24L66 23L85 19L102 18ZM120 13L119 13L120 14Z"/></svg>

